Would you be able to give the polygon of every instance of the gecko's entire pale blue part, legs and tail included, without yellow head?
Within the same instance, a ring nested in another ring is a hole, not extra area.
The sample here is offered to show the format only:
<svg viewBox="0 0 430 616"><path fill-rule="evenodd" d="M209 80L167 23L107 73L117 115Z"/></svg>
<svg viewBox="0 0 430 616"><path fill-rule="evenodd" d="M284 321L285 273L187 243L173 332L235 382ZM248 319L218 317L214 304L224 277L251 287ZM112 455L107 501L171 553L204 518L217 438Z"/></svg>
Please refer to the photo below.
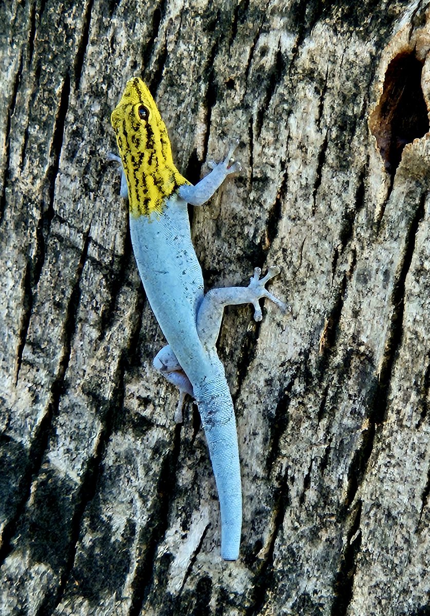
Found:
<svg viewBox="0 0 430 616"><path fill-rule="evenodd" d="M237 144L235 144L236 146ZM184 393L195 397L205 429L221 508L221 555L238 558L241 533L241 482L235 414L224 367L216 352L222 312L227 304L250 302L261 319L258 300L282 302L264 288L278 273L269 268L259 280L256 269L248 287L214 289L203 293L203 275L191 241L187 203L201 205L240 169L227 158L197 185L183 185L166 201L163 212L130 216L131 240L137 267L168 346L154 360L155 367L181 392L177 421L182 421ZM126 196L126 184L121 183ZM125 187L125 188L124 188Z"/></svg>

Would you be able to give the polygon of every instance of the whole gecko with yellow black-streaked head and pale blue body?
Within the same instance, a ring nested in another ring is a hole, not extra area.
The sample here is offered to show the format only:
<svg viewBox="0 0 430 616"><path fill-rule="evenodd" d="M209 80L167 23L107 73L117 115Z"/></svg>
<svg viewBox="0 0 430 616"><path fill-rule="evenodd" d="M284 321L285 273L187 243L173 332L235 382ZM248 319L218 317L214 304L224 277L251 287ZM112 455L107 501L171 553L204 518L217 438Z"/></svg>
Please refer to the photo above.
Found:
<svg viewBox="0 0 430 616"><path fill-rule="evenodd" d="M166 126L144 81L130 79L111 123L121 162L121 196L129 200L131 242L145 294L168 344L153 360L156 370L179 389L174 416L182 423L185 394L197 402L221 510L221 556L238 559L242 524L241 479L235 412L216 341L224 307L259 299L282 310L285 304L265 288L278 267L261 278L256 267L249 286L214 288L204 293L203 275L193 248L187 204L203 205L225 178L241 171L235 140L221 163L192 185L172 160Z"/></svg>

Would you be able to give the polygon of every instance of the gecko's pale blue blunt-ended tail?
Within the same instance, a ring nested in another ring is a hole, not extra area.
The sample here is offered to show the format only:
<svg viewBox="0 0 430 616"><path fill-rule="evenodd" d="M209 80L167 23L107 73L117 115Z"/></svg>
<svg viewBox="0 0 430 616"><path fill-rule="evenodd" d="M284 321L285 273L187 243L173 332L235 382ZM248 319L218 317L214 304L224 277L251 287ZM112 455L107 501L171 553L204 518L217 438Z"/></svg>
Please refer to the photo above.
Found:
<svg viewBox="0 0 430 616"><path fill-rule="evenodd" d="M239 557L242 492L236 419L227 381L206 383L198 392L197 404L219 496L221 556L225 561L235 561Z"/></svg>

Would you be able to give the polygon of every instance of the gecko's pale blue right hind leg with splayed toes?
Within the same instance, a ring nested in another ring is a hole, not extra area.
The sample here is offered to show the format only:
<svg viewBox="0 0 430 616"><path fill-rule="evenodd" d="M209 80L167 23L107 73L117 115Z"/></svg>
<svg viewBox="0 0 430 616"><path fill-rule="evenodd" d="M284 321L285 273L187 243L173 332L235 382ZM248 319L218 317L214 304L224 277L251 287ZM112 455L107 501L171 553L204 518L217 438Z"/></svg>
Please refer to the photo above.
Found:
<svg viewBox="0 0 430 616"><path fill-rule="evenodd" d="M208 349L215 346L225 306L253 304L255 309L254 319L256 321L261 321L262 319L259 299L267 298L277 304L282 310L290 309L289 306L280 301L280 299L275 298L264 287L270 278L274 278L279 272L280 269L278 267L269 267L266 276L260 278L261 269L256 267L249 286L228 286L208 291L201 302L197 314L197 331L202 344Z"/></svg>

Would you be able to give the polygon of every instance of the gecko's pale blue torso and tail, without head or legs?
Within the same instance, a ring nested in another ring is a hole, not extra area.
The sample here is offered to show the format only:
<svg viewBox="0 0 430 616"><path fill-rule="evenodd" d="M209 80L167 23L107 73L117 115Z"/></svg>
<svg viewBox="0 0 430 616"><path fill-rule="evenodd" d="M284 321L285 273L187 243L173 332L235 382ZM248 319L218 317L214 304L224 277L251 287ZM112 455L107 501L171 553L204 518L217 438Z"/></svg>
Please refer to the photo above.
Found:
<svg viewBox="0 0 430 616"><path fill-rule="evenodd" d="M235 560L242 518L236 422L222 363L198 336L203 276L192 248L187 205L171 197L161 216L131 217L130 230L148 301L192 384L219 492L222 557Z"/></svg>

